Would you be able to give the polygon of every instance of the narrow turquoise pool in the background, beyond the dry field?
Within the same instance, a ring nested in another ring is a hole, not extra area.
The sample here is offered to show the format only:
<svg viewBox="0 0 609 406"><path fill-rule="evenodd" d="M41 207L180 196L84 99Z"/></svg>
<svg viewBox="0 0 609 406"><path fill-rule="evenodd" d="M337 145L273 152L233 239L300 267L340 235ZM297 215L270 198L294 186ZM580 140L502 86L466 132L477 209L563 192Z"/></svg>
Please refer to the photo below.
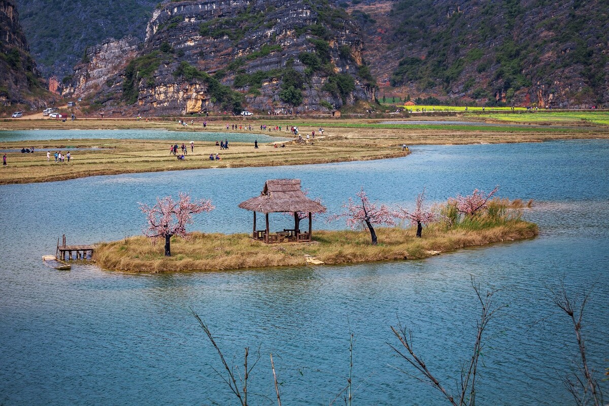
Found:
<svg viewBox="0 0 609 406"><path fill-rule="evenodd" d="M247 132L219 133L214 131L168 130L15 130L0 131L0 141L44 141L47 139L167 139L189 141L272 142L287 136L285 132L252 134ZM289 135L289 134L288 134ZM30 143L25 144L30 145Z"/></svg>

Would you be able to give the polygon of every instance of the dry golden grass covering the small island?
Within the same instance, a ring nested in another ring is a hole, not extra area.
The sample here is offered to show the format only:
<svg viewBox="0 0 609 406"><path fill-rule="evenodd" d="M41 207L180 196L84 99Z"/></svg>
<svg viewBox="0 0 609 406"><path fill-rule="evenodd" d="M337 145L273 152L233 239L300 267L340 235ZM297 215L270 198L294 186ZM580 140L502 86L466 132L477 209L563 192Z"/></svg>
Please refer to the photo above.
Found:
<svg viewBox="0 0 609 406"><path fill-rule="evenodd" d="M312 243L276 244L255 241L245 233L192 233L188 240L172 238L171 257L164 256L162 243L153 246L141 236L99 243L94 259L107 270L129 272L239 270L301 266L306 264L307 255L325 264L423 259L460 248L537 236L537 225L521 219L519 201L499 202L495 210L461 217L451 226L446 222L429 225L422 238L415 237L415 228L378 228L378 245L370 244L367 231L313 231Z"/></svg>

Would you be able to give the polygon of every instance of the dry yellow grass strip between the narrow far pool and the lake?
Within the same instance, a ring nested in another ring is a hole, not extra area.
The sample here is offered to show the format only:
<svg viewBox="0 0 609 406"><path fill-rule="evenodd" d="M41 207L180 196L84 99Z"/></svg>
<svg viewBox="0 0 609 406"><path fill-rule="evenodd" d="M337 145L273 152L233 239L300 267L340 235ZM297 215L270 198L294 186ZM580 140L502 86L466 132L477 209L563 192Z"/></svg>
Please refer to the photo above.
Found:
<svg viewBox="0 0 609 406"><path fill-rule="evenodd" d="M63 149L66 140L0 142L0 149L20 149L23 145L36 149ZM178 145L188 144L187 140L177 141ZM282 141L283 143L283 141ZM0 172L0 184L30 183L68 180L93 175L115 175L118 173L161 172L164 170L205 169L227 167L256 167L331 163L342 161L362 161L367 159L396 158L409 152L398 145L379 142L374 148L356 142L342 142L327 139L309 144L286 142L285 148L275 148L273 144L259 143L254 149L252 143L231 142L228 150L220 150L214 142L197 142L194 153L186 159L169 155L169 141L149 141L138 139L84 139L69 141L77 148L100 147L96 150L72 151L68 163L47 162L46 152L7 153L8 167ZM280 144L281 145L281 144ZM190 151L190 149L189 149ZM180 150L178 150L180 152ZM222 160L210 161L209 154L218 153Z"/></svg>

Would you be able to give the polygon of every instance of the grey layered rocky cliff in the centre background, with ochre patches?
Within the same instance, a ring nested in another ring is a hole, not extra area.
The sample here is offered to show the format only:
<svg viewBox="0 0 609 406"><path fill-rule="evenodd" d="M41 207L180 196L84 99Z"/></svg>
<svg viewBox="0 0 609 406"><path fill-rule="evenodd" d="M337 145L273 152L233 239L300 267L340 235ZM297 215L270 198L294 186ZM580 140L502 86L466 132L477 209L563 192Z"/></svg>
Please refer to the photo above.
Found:
<svg viewBox="0 0 609 406"><path fill-rule="evenodd" d="M325 0L171 1L155 9L143 43L92 48L68 94L157 115L330 111L375 101L363 46L359 26Z"/></svg>

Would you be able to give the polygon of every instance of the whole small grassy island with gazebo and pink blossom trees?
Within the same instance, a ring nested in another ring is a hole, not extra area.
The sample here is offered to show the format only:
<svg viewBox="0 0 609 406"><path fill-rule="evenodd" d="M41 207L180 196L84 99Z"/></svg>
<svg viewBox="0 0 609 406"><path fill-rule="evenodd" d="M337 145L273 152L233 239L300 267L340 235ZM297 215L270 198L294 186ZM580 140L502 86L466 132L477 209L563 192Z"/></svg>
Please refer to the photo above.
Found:
<svg viewBox="0 0 609 406"><path fill-rule="evenodd" d="M249 234L195 232L182 234L184 237L180 237L181 232L185 230L183 225L188 219L184 215L178 215L178 219L185 221L175 228L178 231L159 234L155 226L162 224L162 229L168 228L167 222L158 220L158 214L171 212L168 207L186 208L191 205L192 212L214 209L208 200L191 202L189 196L181 194L179 201L172 201L169 197L159 199L158 209L155 209L157 206L143 206L150 225L147 236L99 243L95 247L93 259L104 269L128 272L240 270L424 259L461 248L537 236L537 225L522 219L523 209L530 206L531 202L525 204L521 200L491 198L496 190L497 188L489 194L476 190L465 197L458 195L431 209L424 207L423 191L418 195L413 210L401 207L396 210L376 201L371 202L362 189L354 200L350 198L348 203L343 205L343 213L328 217L330 221L347 217L347 224L353 229L311 233L310 221L309 231L301 232L299 223L300 219L311 219L311 215L315 213L296 211L295 206L291 204L299 199L305 203L305 199L315 201L317 206L309 207L322 212L322 209L318 209L323 207L320 200L305 197L300 190L300 180L274 180L267 181L259 197L248 200L250 205L256 199L264 200L266 206L263 203L259 206L260 212L267 211L264 230L256 230L254 225L253 233ZM287 201L287 195L292 196L291 203ZM274 209L273 198L288 207L284 212L294 215L293 230L276 233L268 231L269 212L279 211ZM248 206L248 209L251 210L252 206ZM376 229L374 226L377 226ZM151 230L153 233L149 234ZM300 234L306 238L299 241L297 236ZM163 252L160 243L150 243L148 237L165 240L165 251Z"/></svg>

